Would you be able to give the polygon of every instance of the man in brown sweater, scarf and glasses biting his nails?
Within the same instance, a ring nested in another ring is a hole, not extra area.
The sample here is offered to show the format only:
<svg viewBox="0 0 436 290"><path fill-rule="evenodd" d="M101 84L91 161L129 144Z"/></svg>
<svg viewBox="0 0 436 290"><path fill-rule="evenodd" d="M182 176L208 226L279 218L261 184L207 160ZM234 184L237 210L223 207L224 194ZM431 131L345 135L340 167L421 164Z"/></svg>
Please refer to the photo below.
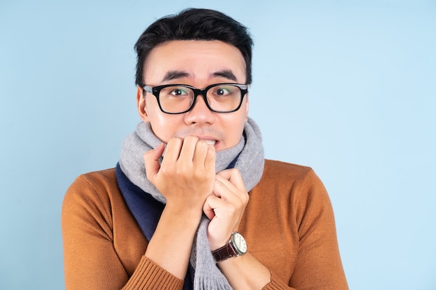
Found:
<svg viewBox="0 0 436 290"><path fill-rule="evenodd" d="M142 122L116 168L65 195L66 289L348 289L324 186L264 159L248 117L251 47L214 10L144 31Z"/></svg>

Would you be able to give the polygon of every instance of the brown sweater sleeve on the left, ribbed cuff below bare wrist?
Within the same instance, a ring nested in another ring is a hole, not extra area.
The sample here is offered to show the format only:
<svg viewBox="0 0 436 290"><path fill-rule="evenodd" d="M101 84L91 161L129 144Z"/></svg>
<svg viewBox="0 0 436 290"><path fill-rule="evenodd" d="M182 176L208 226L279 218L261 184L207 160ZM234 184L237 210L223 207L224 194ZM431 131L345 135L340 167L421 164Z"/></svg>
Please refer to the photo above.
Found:
<svg viewBox="0 0 436 290"><path fill-rule="evenodd" d="M114 246L111 186L102 178L91 179L92 175L78 177L63 200L66 290L182 289L183 280L145 256L132 275L127 273Z"/></svg>

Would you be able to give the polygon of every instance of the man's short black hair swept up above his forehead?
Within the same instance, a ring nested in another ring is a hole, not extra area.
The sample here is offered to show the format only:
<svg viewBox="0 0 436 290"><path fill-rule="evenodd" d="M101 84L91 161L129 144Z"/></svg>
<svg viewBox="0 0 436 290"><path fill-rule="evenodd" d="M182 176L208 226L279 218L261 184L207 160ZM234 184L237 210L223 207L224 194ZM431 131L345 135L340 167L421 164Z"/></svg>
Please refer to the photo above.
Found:
<svg viewBox="0 0 436 290"><path fill-rule="evenodd" d="M134 45L137 51L136 84L143 83L144 63L150 51L171 40L220 40L238 48L245 61L246 83L251 83L253 40L247 27L217 10L189 8L153 22Z"/></svg>

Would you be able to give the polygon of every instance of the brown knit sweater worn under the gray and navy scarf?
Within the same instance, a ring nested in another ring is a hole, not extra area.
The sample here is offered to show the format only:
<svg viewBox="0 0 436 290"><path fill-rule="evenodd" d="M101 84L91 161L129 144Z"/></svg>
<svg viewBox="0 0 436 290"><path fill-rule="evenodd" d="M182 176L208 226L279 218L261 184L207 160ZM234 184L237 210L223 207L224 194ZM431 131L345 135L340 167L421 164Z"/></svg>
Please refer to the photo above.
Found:
<svg viewBox="0 0 436 290"><path fill-rule="evenodd" d="M264 289L348 289L332 205L311 168L266 160L249 195L239 232L270 269ZM68 188L62 232L67 290L183 287L183 280L143 256L148 241L114 168L81 175Z"/></svg>

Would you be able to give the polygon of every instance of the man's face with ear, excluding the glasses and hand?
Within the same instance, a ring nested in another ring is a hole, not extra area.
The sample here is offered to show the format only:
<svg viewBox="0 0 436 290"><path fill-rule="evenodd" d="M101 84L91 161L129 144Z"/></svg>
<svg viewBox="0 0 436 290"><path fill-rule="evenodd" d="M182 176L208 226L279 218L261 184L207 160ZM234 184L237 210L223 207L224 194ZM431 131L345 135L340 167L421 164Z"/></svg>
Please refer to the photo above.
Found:
<svg viewBox="0 0 436 290"><path fill-rule="evenodd" d="M239 49L218 40L175 40L155 47L145 63L144 80L148 86L177 83L205 88L214 83L246 81L245 61ZM153 132L164 143L173 137L198 136L216 141L215 149L238 144L248 116L248 95L233 113L215 113L206 106L203 96L187 113L171 115L159 109L154 95L137 89L141 119L150 122Z"/></svg>

